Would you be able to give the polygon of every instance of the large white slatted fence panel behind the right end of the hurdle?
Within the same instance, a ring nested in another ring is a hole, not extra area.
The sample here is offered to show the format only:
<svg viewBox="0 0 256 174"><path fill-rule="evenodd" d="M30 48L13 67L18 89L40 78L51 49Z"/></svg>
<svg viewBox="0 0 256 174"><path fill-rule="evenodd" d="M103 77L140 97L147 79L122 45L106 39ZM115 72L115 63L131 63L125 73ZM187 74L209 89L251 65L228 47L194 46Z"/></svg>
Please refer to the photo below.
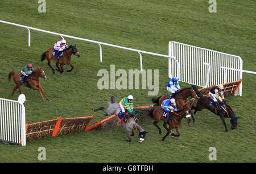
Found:
<svg viewBox="0 0 256 174"><path fill-rule="evenodd" d="M169 42L169 56L176 57L180 63L169 61L169 77L176 76L180 81L204 88L240 80L242 72L249 72L243 71L240 56L179 42ZM242 84L236 95L242 96Z"/></svg>

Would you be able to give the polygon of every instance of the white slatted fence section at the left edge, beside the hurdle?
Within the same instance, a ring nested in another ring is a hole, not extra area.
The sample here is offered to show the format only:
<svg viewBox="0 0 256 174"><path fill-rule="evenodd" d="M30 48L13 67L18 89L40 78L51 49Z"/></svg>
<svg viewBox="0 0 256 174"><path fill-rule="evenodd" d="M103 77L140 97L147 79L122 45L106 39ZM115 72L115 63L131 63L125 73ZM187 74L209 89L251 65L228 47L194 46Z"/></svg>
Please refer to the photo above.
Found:
<svg viewBox="0 0 256 174"><path fill-rule="evenodd" d="M24 94L18 100L0 98L0 142L26 146Z"/></svg>

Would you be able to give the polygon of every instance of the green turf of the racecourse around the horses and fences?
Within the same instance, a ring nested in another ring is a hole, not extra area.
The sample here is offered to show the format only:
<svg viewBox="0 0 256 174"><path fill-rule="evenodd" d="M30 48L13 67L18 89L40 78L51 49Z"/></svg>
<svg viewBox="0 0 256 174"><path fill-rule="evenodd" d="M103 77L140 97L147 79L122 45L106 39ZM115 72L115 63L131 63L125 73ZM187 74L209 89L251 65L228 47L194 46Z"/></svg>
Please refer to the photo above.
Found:
<svg viewBox="0 0 256 174"><path fill-rule="evenodd" d="M43 30L59 32L143 51L168 55L168 42L176 41L242 57L243 69L256 71L255 1L217 1L217 13L208 12L208 1L46 1L46 13L38 13L34 1L1 2L0 19ZM35 90L22 87L26 95L26 122L92 115L91 107L108 106L110 96L117 100L132 94L135 106L151 103L148 90L99 90L97 72L115 65L115 70L139 69L137 52L102 46L100 62L97 44L66 38L77 44L81 57L72 56L71 73L52 74L47 61L40 56L60 40L59 36L31 31L28 47L26 28L0 24L0 97L10 96L14 82L7 81L10 71L18 72L27 63L43 66L47 80L40 80L52 102L42 102ZM159 94L167 93L168 60L142 55L144 69L159 69ZM55 63L52 61L52 66ZM66 65L65 70L69 69ZM116 77L117 79L118 77ZM243 73L242 97L228 98L238 119L237 130L225 133L221 119L208 110L198 112L196 123L181 123L181 136L160 141L163 134L152 125L152 119L141 120L150 133L142 144L137 137L131 143L125 130L115 127L102 131L77 132L27 142L27 146L0 144L0 162L210 162L209 147L216 147L216 162L255 162L255 74ZM190 86L181 82L183 88ZM96 113L94 122L102 118ZM162 127L162 122L159 123ZM38 160L38 148L46 148L46 161ZM123 151L125 149L125 155Z"/></svg>

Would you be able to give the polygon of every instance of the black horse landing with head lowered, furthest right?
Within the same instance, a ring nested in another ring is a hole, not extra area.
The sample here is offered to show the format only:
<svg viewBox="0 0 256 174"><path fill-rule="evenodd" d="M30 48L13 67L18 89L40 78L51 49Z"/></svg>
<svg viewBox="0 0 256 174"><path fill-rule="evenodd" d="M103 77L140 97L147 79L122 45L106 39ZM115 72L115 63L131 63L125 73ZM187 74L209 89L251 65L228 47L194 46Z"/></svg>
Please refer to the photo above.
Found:
<svg viewBox="0 0 256 174"><path fill-rule="evenodd" d="M217 111L216 106L210 104L211 98L210 97L200 97L199 100L197 101L196 106L192 106L191 110L195 110L193 114L196 114L196 112L199 110L203 110L203 109L208 109L210 111L212 111L212 113L219 115L223 125L225 126L225 131L228 132L228 129L226 128L226 122L225 122L225 118L229 117L230 119L230 123L231 123L231 129L234 130L237 128L237 119L239 117L236 117L236 115L234 114L233 110L231 109L231 107L224 103L223 106L221 106L221 108Z"/></svg>

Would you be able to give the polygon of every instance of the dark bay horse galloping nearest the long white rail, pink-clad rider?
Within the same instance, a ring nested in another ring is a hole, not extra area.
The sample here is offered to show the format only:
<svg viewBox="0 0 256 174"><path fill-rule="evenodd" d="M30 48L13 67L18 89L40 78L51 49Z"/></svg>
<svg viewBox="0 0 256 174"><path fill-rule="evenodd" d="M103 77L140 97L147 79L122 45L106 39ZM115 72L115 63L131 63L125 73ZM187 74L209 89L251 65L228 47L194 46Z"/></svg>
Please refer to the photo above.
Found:
<svg viewBox="0 0 256 174"><path fill-rule="evenodd" d="M57 67L56 70L59 71L60 74L64 72L63 67L64 65L67 65L67 64L71 66L71 69L69 69L67 72L71 72L74 68L74 66L71 64L71 55L73 54L73 55L76 55L77 57L80 57L79 52L77 52L76 45L75 46L69 45L68 48L65 48L63 52L63 56L61 56L59 59L56 59L56 57L53 56L53 51L54 51L54 48L49 48L41 56L42 61L44 61L44 59L47 58L48 65L52 69L52 73L53 74L55 73L54 69L51 66L52 59L56 61L56 67ZM60 68L59 68L59 64L60 64Z"/></svg>

